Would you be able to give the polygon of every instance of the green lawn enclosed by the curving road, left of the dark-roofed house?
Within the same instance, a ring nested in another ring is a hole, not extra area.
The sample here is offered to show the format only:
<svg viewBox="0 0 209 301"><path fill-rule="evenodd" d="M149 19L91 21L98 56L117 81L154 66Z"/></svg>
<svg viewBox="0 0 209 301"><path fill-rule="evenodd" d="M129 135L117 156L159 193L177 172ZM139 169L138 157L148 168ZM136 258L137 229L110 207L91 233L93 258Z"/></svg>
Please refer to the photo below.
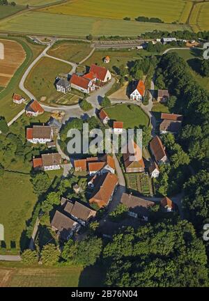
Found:
<svg viewBox="0 0 209 301"><path fill-rule="evenodd" d="M25 86L33 95L36 95L38 100L49 103L62 94L61 92L57 92L54 86L56 77L67 74L71 69L70 65L61 61L42 58L29 73ZM45 100L41 98L45 98Z"/></svg>

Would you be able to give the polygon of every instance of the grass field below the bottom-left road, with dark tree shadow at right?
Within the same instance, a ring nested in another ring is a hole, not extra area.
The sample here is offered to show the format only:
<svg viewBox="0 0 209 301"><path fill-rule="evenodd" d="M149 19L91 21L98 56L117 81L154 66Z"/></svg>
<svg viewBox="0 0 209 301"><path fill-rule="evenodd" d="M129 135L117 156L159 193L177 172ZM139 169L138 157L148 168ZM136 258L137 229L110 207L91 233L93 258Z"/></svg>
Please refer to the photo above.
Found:
<svg viewBox="0 0 209 301"><path fill-rule="evenodd" d="M0 287L98 287L104 281L101 267L26 268L22 263L0 263Z"/></svg>

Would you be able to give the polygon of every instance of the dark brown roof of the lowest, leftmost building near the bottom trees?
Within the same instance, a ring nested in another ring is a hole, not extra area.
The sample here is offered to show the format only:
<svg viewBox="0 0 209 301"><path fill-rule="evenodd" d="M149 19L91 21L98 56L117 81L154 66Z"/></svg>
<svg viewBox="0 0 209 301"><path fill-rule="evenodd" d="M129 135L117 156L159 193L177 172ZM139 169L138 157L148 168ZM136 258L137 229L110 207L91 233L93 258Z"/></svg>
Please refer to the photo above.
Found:
<svg viewBox="0 0 209 301"><path fill-rule="evenodd" d="M67 217L66 215L63 215L63 213L57 210L51 223L51 225L59 231L62 231L63 229L71 230L76 224L77 222L75 222L73 219Z"/></svg>

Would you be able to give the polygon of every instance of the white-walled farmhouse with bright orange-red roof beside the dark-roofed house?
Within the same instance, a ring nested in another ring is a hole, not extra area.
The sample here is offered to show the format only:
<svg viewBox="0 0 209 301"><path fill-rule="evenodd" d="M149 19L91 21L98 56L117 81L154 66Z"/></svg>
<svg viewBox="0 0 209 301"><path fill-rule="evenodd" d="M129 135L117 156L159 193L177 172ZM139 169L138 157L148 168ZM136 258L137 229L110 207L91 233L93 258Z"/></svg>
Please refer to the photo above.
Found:
<svg viewBox="0 0 209 301"><path fill-rule="evenodd" d="M90 93L95 90L95 84L91 79L87 79L76 74L72 75L70 78L70 85L71 88L75 88L82 93Z"/></svg>

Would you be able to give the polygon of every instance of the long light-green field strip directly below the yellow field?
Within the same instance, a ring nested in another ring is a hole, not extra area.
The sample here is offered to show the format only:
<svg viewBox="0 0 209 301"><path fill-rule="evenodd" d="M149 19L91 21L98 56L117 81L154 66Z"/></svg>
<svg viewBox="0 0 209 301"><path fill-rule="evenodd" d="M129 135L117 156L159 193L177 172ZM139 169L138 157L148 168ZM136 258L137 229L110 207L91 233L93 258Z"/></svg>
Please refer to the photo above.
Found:
<svg viewBox="0 0 209 301"><path fill-rule="evenodd" d="M65 24L63 26L63 24ZM27 12L0 22L2 31L19 33L40 33L53 36L85 37L89 33L93 36L139 36L146 31L162 30L190 30L187 25L160 24L150 22L135 22L124 20L98 19L95 17L81 17L56 15L49 13Z"/></svg>

